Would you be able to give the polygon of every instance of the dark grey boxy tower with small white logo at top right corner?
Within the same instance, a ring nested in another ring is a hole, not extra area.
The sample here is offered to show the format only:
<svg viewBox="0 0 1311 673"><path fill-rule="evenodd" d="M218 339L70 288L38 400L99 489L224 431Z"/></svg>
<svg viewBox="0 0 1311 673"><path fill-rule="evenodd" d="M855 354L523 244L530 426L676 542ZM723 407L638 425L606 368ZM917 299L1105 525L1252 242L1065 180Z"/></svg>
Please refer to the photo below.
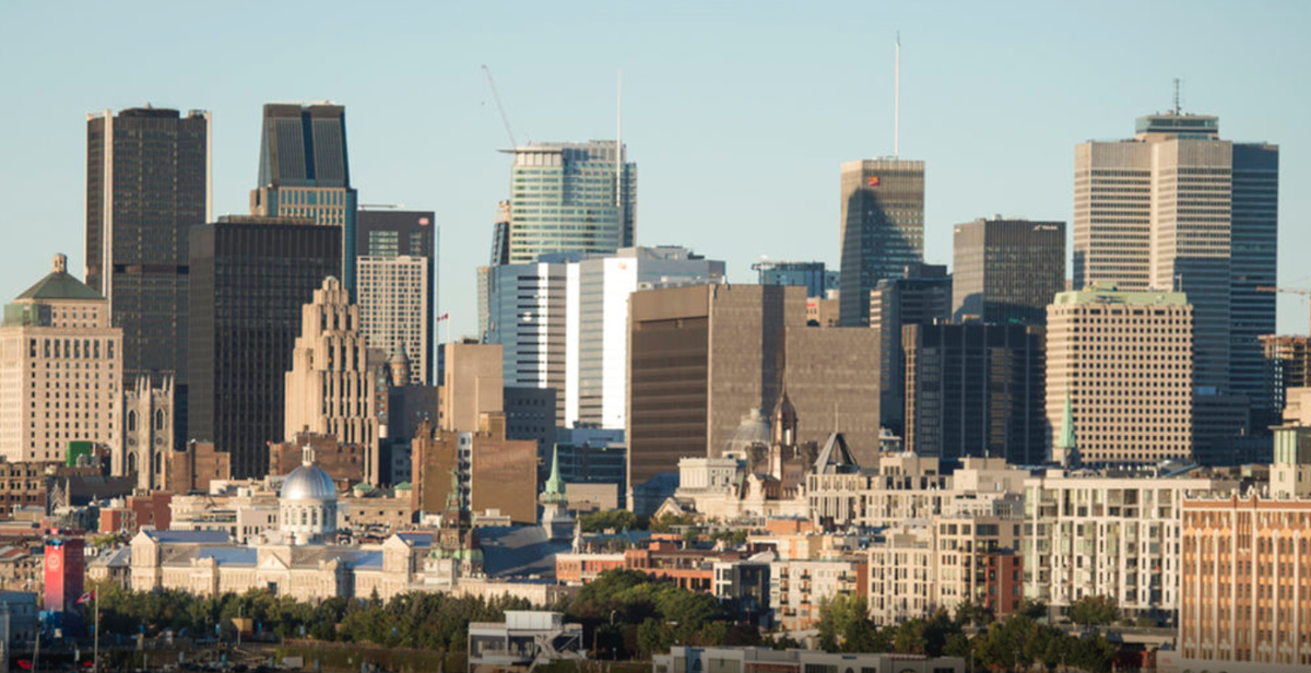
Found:
<svg viewBox="0 0 1311 673"><path fill-rule="evenodd" d="M1065 222L977 219L956 226L952 314L992 324L1041 325L1065 291Z"/></svg>

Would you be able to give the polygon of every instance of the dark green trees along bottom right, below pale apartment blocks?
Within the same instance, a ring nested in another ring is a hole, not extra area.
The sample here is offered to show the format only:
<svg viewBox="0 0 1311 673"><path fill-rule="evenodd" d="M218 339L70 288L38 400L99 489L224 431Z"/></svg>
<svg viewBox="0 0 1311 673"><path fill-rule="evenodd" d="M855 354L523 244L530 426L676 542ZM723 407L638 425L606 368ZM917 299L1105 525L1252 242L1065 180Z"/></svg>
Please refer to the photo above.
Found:
<svg viewBox="0 0 1311 673"><path fill-rule="evenodd" d="M1101 635L1074 636L1042 623L1040 615L1046 607L1041 603L1027 603L1004 621L994 621L987 610L966 603L954 615L939 610L927 618L885 627L869 619L863 596L838 596L821 603L821 609L819 648L827 652L953 656L992 670L1027 670L1041 664L1100 673L1112 669L1117 651ZM787 638L768 643L797 647Z"/></svg>

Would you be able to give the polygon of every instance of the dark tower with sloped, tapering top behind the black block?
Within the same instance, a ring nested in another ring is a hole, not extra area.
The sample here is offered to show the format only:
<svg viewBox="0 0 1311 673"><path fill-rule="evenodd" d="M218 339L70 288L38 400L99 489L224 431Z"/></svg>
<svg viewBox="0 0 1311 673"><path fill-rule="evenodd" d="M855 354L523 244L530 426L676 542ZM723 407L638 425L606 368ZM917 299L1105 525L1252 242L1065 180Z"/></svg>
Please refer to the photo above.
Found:
<svg viewBox="0 0 1311 673"><path fill-rule="evenodd" d="M355 210L346 153L346 108L267 104L260 133L260 182L250 214L309 218L342 230L338 275L355 296Z"/></svg>

